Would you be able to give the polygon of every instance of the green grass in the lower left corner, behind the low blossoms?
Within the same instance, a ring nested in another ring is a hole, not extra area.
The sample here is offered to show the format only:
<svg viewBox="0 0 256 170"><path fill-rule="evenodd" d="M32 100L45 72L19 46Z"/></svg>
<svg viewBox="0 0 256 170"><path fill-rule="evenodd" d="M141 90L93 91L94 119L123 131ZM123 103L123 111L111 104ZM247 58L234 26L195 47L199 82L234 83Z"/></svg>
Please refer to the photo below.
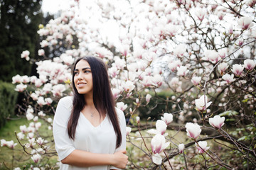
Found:
<svg viewBox="0 0 256 170"><path fill-rule="evenodd" d="M19 118L17 120L9 120L6 125L0 129L0 140L4 139L6 141L14 140L15 143L18 144L18 140L16 139L15 131L20 132L19 127L21 125L26 125L28 127L29 123L31 121L26 120L26 118ZM39 130L39 133L42 138L50 141L53 141L53 134L51 130L48 130L48 125L41 121L42 126ZM38 134L35 132L35 135ZM25 135L26 137L26 135ZM26 143L27 140L21 140L21 144ZM36 146L38 148L38 146ZM31 153L31 149L27 149L26 151L28 153ZM55 152L54 145L50 147L51 152ZM41 162L38 162L35 164L33 160L31 159L31 155L26 154L23 151L23 147L21 145L16 145L14 149L9 149L7 147L0 147L0 169L14 169L15 167L20 167L23 169L24 166L26 166L26 169L28 169L29 166L33 165L35 167L38 166L46 166L46 164L49 164L50 166L54 166L56 162L58 162L57 156L51 157L44 157L44 159L41 160Z"/></svg>

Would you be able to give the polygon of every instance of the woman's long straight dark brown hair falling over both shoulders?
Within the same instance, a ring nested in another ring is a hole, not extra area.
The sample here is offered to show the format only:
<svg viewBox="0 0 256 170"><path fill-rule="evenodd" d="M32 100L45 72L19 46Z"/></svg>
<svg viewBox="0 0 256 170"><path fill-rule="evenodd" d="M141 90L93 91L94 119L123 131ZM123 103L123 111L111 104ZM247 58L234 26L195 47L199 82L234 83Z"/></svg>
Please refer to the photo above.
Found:
<svg viewBox="0 0 256 170"><path fill-rule="evenodd" d="M105 63L99 57L81 57L79 58L73 67L73 76L72 76L72 85L74 91L73 97L73 108L68 120L68 136L74 140L75 139L75 129L78 125L78 118L80 111L85 107L85 98L82 94L78 93L78 90L75 88L75 66L80 60L85 60L90 64L92 72L92 86L93 86L93 103L95 108L103 115L107 113L110 117L111 123L114 128L114 132L117 135L116 148L119 147L122 143L122 134L119 128L119 120L117 118L117 113L114 109L114 97L110 88L110 80L107 74L107 67ZM107 116L106 115L106 116Z"/></svg>

